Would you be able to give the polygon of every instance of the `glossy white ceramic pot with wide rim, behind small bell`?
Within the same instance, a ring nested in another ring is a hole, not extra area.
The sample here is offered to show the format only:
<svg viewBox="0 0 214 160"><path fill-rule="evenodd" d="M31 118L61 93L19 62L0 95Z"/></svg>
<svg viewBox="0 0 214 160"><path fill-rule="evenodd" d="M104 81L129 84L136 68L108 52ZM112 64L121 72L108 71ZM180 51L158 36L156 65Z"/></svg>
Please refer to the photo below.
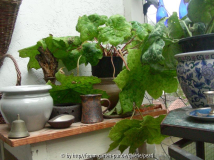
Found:
<svg viewBox="0 0 214 160"><path fill-rule="evenodd" d="M51 88L49 85L0 88L3 93L0 109L9 127L19 114L29 132L44 128L53 109L53 99L49 94Z"/></svg>

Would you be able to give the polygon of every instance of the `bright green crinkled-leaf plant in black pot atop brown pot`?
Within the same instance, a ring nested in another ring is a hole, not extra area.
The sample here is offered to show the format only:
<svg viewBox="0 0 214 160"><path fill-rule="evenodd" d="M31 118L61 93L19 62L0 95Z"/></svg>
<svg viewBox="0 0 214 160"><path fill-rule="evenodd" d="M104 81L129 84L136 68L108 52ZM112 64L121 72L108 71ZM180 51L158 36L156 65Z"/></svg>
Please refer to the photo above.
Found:
<svg viewBox="0 0 214 160"><path fill-rule="evenodd" d="M94 87L107 91L111 108L117 104L120 92L113 80L121 72L123 63L129 70L125 61L125 55L128 54L127 45L135 42L132 47L139 48L152 28L146 25L147 27L144 27L138 22L127 22L121 15L107 18L93 14L78 19L76 30L80 32L80 39L84 42L91 41L102 50L98 64L91 64L92 75L101 79L101 83Z"/></svg>

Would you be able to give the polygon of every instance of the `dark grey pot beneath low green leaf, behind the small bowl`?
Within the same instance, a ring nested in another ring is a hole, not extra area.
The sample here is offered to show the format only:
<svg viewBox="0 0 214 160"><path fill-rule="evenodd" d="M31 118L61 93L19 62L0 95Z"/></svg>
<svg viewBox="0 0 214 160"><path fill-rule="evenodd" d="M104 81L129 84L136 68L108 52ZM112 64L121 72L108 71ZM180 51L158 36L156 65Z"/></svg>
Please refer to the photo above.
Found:
<svg viewBox="0 0 214 160"><path fill-rule="evenodd" d="M75 117L74 122L80 122L82 115L82 106L81 104L72 104L72 103L56 104L53 107L50 119L61 114L73 115Z"/></svg>

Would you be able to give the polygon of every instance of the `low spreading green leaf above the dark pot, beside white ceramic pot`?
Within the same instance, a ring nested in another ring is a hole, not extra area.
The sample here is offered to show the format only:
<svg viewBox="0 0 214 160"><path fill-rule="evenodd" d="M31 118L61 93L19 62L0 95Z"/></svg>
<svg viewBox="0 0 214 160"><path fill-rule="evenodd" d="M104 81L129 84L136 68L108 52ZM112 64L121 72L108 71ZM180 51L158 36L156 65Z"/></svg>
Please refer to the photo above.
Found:
<svg viewBox="0 0 214 160"><path fill-rule="evenodd" d="M93 89L93 84L100 83L101 80L93 76L74 76L73 74L66 76L60 72L56 73L56 79L61 85L47 83L52 86L50 94L54 100L54 104L59 103L81 103L80 95L85 94L102 94L108 97L105 91Z"/></svg>

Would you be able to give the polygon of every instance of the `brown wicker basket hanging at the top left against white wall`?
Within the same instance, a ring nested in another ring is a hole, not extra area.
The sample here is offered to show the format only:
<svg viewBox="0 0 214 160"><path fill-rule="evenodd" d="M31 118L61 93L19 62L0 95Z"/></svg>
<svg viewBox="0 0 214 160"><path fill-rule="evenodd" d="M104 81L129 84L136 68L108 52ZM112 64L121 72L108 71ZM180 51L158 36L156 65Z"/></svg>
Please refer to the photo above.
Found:
<svg viewBox="0 0 214 160"><path fill-rule="evenodd" d="M21 2L0 0L0 56L7 53Z"/></svg>

